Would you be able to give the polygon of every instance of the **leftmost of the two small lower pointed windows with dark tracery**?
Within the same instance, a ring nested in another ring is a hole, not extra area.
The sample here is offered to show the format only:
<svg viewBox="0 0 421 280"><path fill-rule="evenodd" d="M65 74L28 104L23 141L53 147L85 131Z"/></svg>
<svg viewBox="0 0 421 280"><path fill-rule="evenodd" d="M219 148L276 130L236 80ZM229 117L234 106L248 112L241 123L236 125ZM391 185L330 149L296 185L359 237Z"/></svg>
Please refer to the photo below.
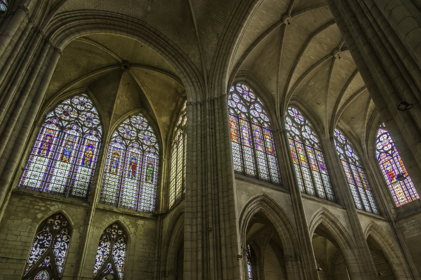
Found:
<svg viewBox="0 0 421 280"><path fill-rule="evenodd" d="M69 222L60 214L42 222L32 243L23 278L59 280L63 275L70 234Z"/></svg>

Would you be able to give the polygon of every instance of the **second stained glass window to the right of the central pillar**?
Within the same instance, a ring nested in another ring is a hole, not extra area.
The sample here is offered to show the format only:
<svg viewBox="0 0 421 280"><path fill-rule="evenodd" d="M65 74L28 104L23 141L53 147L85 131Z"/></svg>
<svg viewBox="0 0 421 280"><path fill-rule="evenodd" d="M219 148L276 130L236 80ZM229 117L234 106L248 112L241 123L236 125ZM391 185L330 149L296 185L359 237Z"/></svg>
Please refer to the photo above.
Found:
<svg viewBox="0 0 421 280"><path fill-rule="evenodd" d="M296 108L288 107L285 127L301 192L335 201L322 147L312 125Z"/></svg>

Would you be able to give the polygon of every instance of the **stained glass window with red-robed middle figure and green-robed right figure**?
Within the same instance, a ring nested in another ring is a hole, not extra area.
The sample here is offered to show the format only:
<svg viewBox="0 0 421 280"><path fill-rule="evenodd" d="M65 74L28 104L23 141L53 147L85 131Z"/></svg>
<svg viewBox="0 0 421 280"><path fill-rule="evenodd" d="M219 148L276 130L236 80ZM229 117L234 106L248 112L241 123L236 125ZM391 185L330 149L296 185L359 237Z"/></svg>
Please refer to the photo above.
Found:
<svg viewBox="0 0 421 280"><path fill-rule="evenodd" d="M153 213L157 173L155 133L142 114L133 115L111 137L99 201Z"/></svg>

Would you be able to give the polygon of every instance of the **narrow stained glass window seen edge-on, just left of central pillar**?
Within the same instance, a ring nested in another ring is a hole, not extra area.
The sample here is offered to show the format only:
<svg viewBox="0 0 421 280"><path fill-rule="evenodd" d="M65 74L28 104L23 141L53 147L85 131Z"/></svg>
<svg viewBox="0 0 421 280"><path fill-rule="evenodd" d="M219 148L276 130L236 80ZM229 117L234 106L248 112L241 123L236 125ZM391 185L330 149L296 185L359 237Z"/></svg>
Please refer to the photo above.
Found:
<svg viewBox="0 0 421 280"><path fill-rule="evenodd" d="M186 184L186 123L187 101L174 128L174 140L171 151L169 208L179 201L185 193Z"/></svg>

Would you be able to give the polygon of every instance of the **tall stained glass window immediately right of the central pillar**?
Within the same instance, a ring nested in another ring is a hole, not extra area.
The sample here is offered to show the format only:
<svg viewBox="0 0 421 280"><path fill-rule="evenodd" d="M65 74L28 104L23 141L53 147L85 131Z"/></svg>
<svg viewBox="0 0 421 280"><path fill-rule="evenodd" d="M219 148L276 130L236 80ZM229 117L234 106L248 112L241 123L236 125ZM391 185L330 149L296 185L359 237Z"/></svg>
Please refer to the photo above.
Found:
<svg viewBox="0 0 421 280"><path fill-rule="evenodd" d="M279 184L273 133L263 102L245 84L232 86L229 92L234 170Z"/></svg>

